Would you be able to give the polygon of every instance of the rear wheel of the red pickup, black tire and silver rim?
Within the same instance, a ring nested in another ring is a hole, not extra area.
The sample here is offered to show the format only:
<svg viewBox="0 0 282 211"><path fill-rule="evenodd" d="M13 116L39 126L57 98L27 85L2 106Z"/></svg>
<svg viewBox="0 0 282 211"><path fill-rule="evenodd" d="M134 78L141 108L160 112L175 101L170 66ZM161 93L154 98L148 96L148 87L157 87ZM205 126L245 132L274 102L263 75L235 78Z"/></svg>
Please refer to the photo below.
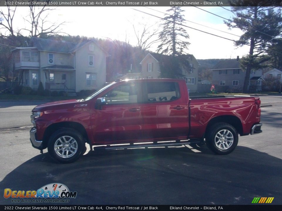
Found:
<svg viewBox="0 0 282 211"><path fill-rule="evenodd" d="M238 144L238 133L230 124L216 123L207 131L206 144L216 154L229 154Z"/></svg>

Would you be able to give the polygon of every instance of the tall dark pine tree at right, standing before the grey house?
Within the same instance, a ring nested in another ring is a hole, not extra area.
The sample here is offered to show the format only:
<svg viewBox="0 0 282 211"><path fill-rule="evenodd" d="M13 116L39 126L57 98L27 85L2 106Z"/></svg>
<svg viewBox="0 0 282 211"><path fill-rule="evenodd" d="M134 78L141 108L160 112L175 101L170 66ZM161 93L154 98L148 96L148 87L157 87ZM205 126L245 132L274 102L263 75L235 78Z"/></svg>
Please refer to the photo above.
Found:
<svg viewBox="0 0 282 211"><path fill-rule="evenodd" d="M247 92L251 69L259 55L266 52L267 46L273 38L282 31L281 8L272 7L272 1L265 0L237 0L232 5L232 11L236 17L231 21L225 21L229 28L239 28L243 31L235 46L249 45L249 54L246 56L249 62L245 64L246 76L243 92ZM246 62L246 59L245 59ZM261 63L260 63L261 64Z"/></svg>

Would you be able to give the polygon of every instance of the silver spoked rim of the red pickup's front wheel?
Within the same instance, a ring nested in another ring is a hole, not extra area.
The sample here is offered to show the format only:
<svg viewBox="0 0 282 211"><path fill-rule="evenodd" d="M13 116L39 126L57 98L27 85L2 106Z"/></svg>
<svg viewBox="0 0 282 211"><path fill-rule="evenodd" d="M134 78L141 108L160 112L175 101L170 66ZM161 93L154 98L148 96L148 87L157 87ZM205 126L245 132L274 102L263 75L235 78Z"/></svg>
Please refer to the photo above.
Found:
<svg viewBox="0 0 282 211"><path fill-rule="evenodd" d="M77 152L78 144L71 136L61 136L54 144L56 154L61 158L70 158Z"/></svg>

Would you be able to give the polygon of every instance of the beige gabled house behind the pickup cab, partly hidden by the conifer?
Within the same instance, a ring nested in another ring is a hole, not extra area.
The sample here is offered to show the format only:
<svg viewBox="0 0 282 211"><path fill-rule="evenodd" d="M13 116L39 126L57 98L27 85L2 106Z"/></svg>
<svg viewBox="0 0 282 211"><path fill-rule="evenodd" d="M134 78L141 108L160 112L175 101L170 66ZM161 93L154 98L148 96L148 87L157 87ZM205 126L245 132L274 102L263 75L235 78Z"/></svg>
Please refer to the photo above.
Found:
<svg viewBox="0 0 282 211"><path fill-rule="evenodd" d="M182 70L184 79L186 80L187 89L190 92L197 91L199 62L193 55L187 55L191 69L189 71ZM161 73L160 62L163 59L170 59L170 56L157 53L148 53L140 62L142 66L140 73L128 73L122 76L122 79L154 79L159 78Z"/></svg>

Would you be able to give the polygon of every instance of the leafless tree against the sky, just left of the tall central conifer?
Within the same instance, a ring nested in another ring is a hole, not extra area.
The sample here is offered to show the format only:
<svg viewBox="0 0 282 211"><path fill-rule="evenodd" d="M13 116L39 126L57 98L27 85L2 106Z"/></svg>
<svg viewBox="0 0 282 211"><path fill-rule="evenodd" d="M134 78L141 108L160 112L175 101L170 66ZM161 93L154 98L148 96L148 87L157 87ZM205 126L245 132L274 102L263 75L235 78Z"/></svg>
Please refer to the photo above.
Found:
<svg viewBox="0 0 282 211"><path fill-rule="evenodd" d="M135 26L133 26L135 36L137 38L137 45L140 50L145 51L149 49L154 43L159 42L157 38L155 38L156 35L159 34L159 30L154 28L155 25L147 26L147 24L142 24L142 31L135 29Z"/></svg>

